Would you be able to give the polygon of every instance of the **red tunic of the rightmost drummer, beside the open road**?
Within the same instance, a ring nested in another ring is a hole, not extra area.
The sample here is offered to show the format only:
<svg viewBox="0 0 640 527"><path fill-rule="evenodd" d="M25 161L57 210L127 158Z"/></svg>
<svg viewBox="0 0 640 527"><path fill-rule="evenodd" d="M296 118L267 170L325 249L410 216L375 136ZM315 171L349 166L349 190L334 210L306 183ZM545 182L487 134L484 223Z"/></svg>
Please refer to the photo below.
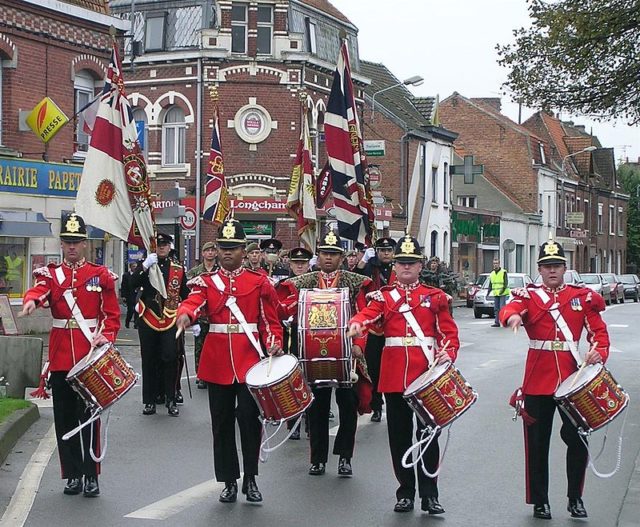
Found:
<svg viewBox="0 0 640 527"><path fill-rule="evenodd" d="M548 296L545 302L536 290ZM563 285L553 291L543 285L529 285L526 288L511 291L514 300L500 310L503 324L511 315L518 313L522 317L529 339L552 342L567 340L558 328L551 313L554 304L567 322L574 341L579 341L582 329L587 330L587 340L597 342L597 351L606 361L609 356L609 334L600 316L605 305L602 297L590 289L573 285ZM584 352L581 353L584 357ZM570 351L550 351L540 349L540 345L530 347L527 354L522 391L526 395L551 395L560 383L577 369Z"/></svg>

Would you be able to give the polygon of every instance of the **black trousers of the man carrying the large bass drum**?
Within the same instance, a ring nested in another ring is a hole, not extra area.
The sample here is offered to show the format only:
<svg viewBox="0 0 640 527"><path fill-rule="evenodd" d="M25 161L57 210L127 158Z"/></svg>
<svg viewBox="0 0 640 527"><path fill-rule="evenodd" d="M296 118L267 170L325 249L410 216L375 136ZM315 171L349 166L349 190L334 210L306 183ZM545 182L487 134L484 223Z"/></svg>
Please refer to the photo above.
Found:
<svg viewBox="0 0 640 527"><path fill-rule="evenodd" d="M312 388L314 401L307 411L311 463L326 463L329 456L329 410L333 388ZM354 388L336 388L340 426L333 442L333 453L352 458L358 427L358 394Z"/></svg>

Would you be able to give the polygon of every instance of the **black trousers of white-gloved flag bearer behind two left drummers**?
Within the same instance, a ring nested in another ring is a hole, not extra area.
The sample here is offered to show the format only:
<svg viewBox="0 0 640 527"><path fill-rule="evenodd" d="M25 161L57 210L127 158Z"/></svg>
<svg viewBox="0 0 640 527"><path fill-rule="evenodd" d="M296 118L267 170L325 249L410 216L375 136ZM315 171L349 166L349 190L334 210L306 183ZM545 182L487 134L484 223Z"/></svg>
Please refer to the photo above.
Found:
<svg viewBox="0 0 640 527"><path fill-rule="evenodd" d="M153 404L156 396L163 394L166 400L173 400L178 372L175 326L156 331L139 320L138 336L142 354L142 403Z"/></svg>

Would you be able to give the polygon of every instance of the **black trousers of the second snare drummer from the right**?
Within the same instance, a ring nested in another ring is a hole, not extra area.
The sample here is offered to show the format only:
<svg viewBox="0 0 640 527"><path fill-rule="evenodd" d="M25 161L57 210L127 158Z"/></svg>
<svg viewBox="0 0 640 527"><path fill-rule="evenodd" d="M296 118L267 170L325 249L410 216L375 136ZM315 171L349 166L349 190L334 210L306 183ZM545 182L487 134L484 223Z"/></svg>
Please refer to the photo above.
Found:
<svg viewBox="0 0 640 527"><path fill-rule="evenodd" d="M418 495L421 498L437 498L438 478L427 477L422 471L421 463L411 468L402 466L402 456L413 444L413 410L404 400L401 393L385 393L384 398L387 402L387 430L393 472L400 484L396 490L396 499L414 499L416 494L416 470L418 471ZM419 439L424 425L417 417L415 421L417 422L415 437ZM423 460L427 470L433 474L438 468L440 460L440 446L438 445L437 437L431 441L429 448L423 454Z"/></svg>

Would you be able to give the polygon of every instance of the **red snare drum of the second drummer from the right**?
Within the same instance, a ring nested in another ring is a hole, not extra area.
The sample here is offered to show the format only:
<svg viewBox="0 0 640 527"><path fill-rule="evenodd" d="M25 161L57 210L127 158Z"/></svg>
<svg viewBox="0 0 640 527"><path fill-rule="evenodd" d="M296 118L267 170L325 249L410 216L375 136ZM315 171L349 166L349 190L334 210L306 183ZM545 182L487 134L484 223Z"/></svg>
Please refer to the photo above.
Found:
<svg viewBox="0 0 640 527"><path fill-rule="evenodd" d="M446 362L413 381L403 397L425 426L444 428L466 412L478 394L460 370Z"/></svg>

